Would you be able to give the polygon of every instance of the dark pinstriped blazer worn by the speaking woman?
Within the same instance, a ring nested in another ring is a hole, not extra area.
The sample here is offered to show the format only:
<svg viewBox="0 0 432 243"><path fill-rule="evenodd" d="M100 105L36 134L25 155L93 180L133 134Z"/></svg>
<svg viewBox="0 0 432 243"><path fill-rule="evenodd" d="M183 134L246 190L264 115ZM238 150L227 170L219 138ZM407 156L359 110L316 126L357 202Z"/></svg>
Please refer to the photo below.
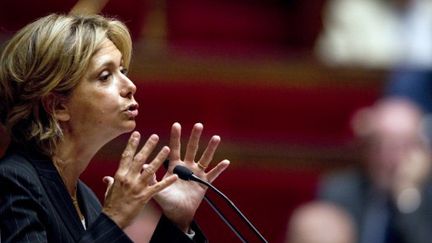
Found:
<svg viewBox="0 0 432 243"><path fill-rule="evenodd" d="M82 181L77 197L87 229L52 161L35 151L9 149L0 160L0 242L131 242ZM195 224L192 228L194 241L162 216L151 242L206 242Z"/></svg>

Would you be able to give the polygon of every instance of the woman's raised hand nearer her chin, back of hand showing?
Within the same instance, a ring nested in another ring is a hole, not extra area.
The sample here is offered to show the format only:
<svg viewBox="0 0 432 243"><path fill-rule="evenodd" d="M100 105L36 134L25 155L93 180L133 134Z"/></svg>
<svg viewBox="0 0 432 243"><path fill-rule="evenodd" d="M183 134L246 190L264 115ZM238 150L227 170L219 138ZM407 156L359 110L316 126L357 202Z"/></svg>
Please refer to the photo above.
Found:
<svg viewBox="0 0 432 243"><path fill-rule="evenodd" d="M170 153L170 149L166 146L151 163L144 166L158 140L157 135L150 136L142 149L136 153L140 134L133 132L114 178L104 178L108 183L108 189L103 212L120 228L128 226L156 193L173 184L177 179L176 175L165 176L159 182L155 179L155 172Z"/></svg>

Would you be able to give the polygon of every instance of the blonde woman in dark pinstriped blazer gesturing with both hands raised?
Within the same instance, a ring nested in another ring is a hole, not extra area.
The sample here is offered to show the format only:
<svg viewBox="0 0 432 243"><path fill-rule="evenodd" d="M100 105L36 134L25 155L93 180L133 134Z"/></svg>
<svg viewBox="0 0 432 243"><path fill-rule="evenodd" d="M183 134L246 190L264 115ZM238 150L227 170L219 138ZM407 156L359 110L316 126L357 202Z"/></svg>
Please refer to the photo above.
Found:
<svg viewBox="0 0 432 243"><path fill-rule="evenodd" d="M171 129L170 148L150 162L158 137L138 152L134 131L103 207L79 180L107 142L135 128L136 86L126 76L131 39L121 22L101 16L52 14L19 31L0 60L0 119L11 145L0 160L2 242L129 242L123 229L155 198L163 216L153 242L205 241L193 223L205 188L177 180L172 169L187 166L213 181L229 165L206 167L219 144L213 136L195 162L202 125L195 124L184 159L180 130ZM169 158L168 172L155 171Z"/></svg>

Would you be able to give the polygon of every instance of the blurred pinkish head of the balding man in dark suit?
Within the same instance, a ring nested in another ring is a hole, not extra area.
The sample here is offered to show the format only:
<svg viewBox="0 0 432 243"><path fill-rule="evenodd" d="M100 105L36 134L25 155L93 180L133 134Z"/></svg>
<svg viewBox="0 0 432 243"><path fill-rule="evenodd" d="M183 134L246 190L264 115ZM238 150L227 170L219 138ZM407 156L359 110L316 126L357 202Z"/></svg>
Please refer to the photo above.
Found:
<svg viewBox="0 0 432 243"><path fill-rule="evenodd" d="M401 179L413 179L407 176L423 176L420 174L428 171L422 114L414 104L389 99L360 114L357 122L366 142L368 171L377 188L393 190Z"/></svg>

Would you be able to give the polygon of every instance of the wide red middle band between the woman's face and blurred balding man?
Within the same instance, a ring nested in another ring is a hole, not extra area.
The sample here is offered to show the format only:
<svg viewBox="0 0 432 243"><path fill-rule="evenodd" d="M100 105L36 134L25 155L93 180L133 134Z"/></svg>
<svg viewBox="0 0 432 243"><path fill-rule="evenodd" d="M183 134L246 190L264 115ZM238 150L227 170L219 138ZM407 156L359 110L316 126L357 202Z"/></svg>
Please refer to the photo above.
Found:
<svg viewBox="0 0 432 243"><path fill-rule="evenodd" d="M203 122L206 134L230 142L338 144L351 139L349 120L371 103L377 89L281 87L176 80L135 80L140 103L138 127L167 136L170 125L186 129ZM202 85L205 83L205 85Z"/></svg>

